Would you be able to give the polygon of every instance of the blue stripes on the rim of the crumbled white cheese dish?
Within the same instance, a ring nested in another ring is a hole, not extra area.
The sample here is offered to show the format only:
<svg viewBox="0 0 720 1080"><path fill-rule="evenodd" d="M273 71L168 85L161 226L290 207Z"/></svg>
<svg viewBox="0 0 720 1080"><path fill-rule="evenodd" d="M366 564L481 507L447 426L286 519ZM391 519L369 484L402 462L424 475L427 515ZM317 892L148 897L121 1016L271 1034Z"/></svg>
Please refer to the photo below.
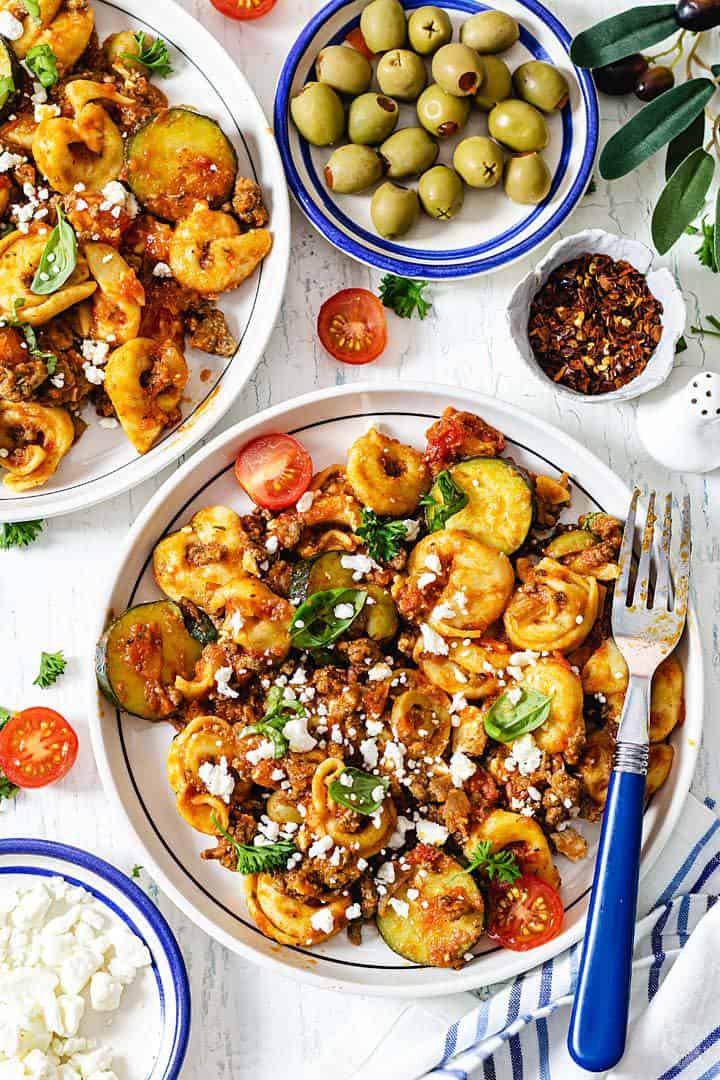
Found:
<svg viewBox="0 0 720 1080"><path fill-rule="evenodd" d="M160 947L165 955L165 959L167 960L175 995L175 1023L172 1041L166 1054L166 1062L163 1065L163 1071L161 1074L155 1071L155 1063L148 1080L178 1080L190 1038L190 985L188 982L188 973L185 967L185 960L182 959L182 954L180 953L180 948L175 940L173 931L161 912L155 907L152 901L148 900L142 890L136 886L134 881L131 881L125 874L117 869L117 867L107 863L104 859L98 859L97 855L92 855L90 852L82 851L80 848L73 848L68 843L57 843L55 840L0 840L0 859L6 855L54 859L60 863L80 866L82 869L87 870L96 877L105 879L112 885L119 892L126 896L133 906L141 913L145 919L147 919L158 939ZM136 934L136 936L140 937L141 941L146 941L145 936L138 930L127 913L123 912L123 909L119 907L114 901L110 900L109 896L106 896L99 889L87 881L71 877L65 872L52 870L31 865L0 865L0 875L5 874L63 877L71 885L79 885L83 889L87 889L89 892L92 892L92 894L103 904L106 904L111 912L122 919L122 921L128 927L130 930L132 930L134 934ZM148 947L150 948L150 946ZM152 948L150 948L151 955L152 951ZM154 957L152 961L152 971L158 984L161 1016L164 1026L166 1003L165 993Z"/></svg>

